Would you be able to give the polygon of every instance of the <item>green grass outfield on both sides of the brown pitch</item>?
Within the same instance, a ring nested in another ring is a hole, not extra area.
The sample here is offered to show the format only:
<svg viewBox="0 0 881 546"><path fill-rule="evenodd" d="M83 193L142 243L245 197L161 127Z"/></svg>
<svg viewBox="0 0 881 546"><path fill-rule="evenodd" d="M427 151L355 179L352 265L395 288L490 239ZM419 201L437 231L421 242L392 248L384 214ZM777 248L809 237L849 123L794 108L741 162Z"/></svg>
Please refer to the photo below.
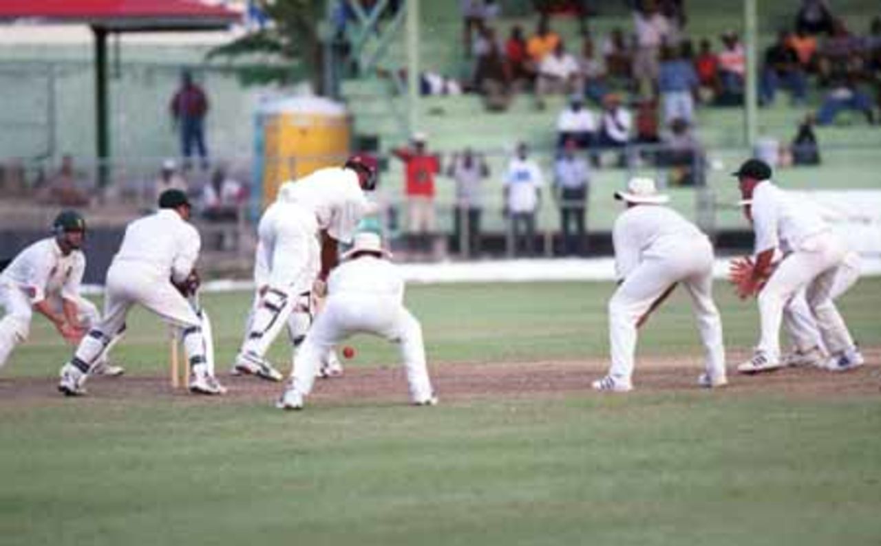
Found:
<svg viewBox="0 0 881 546"><path fill-rule="evenodd" d="M408 301L438 370L442 362L602 358L612 289L413 286ZM729 349L747 349L757 335L754 302L722 284L717 297ZM248 295L204 303L223 372ZM881 279L862 279L841 308L863 345L881 346ZM166 339L138 311L115 354L133 375L164 375ZM644 359L700 352L681 293L640 342ZM396 358L382 343L352 344L359 354L349 366ZM284 345L272 353L279 363ZM2 392L40 377L51 391L69 353L35 321L3 370ZM868 380L879 382L877 365L870 362ZM401 403L316 401L285 413L251 397L129 400L102 397L100 387L78 400L0 400L0 544L881 542L877 390L452 400L441 392L440 406L411 408L402 384Z"/></svg>

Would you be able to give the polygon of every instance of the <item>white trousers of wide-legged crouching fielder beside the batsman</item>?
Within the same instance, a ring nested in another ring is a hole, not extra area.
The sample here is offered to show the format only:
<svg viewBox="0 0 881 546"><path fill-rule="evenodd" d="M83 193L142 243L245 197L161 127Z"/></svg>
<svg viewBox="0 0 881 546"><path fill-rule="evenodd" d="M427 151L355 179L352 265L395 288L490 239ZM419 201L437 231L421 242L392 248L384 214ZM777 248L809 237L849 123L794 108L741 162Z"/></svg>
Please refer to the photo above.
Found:
<svg viewBox="0 0 881 546"><path fill-rule="evenodd" d="M360 293L329 295L297 351L292 373L294 388L301 395L312 392L322 357L337 343L358 333L399 344L413 402L433 395L419 321L396 299Z"/></svg>

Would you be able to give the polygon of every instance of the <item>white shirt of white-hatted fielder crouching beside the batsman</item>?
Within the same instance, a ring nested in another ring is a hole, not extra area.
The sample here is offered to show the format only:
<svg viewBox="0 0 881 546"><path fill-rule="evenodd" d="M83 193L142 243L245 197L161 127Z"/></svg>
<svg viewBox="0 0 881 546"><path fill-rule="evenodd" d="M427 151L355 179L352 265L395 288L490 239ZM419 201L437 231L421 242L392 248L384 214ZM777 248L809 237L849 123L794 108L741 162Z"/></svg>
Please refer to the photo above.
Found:
<svg viewBox="0 0 881 546"><path fill-rule="evenodd" d="M374 255L361 255L340 263L330 272L328 294L377 296L403 305L403 277L394 263Z"/></svg>

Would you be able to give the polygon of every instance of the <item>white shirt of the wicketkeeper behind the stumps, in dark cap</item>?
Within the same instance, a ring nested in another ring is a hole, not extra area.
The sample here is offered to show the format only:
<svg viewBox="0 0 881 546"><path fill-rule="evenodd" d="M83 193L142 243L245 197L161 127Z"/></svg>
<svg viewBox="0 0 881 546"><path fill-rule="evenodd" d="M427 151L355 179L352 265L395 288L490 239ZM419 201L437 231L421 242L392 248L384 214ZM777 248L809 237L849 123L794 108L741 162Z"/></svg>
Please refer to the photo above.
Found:
<svg viewBox="0 0 881 546"><path fill-rule="evenodd" d="M195 227L174 210L162 209L125 228L114 263L138 263L159 277L181 282L196 265L201 246Z"/></svg>

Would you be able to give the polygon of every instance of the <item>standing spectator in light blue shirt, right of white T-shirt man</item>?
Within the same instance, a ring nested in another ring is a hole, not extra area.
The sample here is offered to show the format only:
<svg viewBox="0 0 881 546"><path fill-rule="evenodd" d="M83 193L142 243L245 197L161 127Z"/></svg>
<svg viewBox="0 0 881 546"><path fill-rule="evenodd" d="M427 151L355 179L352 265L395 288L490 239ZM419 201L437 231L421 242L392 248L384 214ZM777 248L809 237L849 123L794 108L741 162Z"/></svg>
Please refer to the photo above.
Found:
<svg viewBox="0 0 881 546"><path fill-rule="evenodd" d="M575 154L577 145L567 140L554 165L554 196L559 206L560 236L564 255L583 255L585 209L590 186L588 162Z"/></svg>

